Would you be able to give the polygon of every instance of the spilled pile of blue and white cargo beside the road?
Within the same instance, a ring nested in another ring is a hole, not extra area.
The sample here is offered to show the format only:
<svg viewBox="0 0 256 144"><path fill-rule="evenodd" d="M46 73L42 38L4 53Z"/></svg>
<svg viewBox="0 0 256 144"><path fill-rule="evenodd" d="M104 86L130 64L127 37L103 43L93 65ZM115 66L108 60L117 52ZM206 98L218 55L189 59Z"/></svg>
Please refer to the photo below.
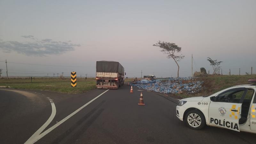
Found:
<svg viewBox="0 0 256 144"><path fill-rule="evenodd" d="M142 79L131 85L139 89L161 93L187 93L195 94L203 89L203 81L197 81L192 77L169 78L164 80Z"/></svg>

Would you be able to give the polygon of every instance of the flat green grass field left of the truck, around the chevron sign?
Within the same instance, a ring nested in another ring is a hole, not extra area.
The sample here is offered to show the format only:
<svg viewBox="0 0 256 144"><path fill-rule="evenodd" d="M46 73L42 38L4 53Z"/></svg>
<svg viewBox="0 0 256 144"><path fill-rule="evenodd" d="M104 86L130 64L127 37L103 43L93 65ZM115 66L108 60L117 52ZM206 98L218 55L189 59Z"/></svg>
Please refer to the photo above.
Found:
<svg viewBox="0 0 256 144"><path fill-rule="evenodd" d="M70 78L9 78L0 79L0 86L10 86L15 89L43 90L60 93L82 93L96 88L95 78L77 78L77 86L71 87Z"/></svg>

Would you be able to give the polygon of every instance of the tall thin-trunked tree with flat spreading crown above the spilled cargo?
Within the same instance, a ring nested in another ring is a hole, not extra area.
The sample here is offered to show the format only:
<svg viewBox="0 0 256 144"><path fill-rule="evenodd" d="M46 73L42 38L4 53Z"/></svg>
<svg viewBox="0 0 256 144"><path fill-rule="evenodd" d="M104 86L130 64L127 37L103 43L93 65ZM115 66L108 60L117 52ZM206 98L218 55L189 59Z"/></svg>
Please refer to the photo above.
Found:
<svg viewBox="0 0 256 144"><path fill-rule="evenodd" d="M181 59L183 59L185 57L182 54L176 55L177 53L180 53L181 47L179 47L178 45L176 45L174 43L169 43L169 42L164 42L164 41L163 42L158 41L156 44L153 44L153 46L160 47L161 52L163 52L164 54L168 54L167 55L168 59L173 59L175 61L175 63L178 66L177 77L179 77L180 66L178 64L178 61L180 61Z"/></svg>

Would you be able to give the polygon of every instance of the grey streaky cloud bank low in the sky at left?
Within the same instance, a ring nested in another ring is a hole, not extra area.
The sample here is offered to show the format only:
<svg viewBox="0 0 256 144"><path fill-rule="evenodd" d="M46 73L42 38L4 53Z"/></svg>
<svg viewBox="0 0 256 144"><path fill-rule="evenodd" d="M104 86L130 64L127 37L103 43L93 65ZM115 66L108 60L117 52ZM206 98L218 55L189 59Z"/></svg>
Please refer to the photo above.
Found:
<svg viewBox="0 0 256 144"><path fill-rule="evenodd" d="M34 36L22 36L32 38ZM62 54L69 51L74 51L75 47L80 44L72 44L67 42L56 42L52 39L43 39L33 42L18 42L18 41L0 41L0 50L6 53L17 52L25 55L46 56Z"/></svg>

